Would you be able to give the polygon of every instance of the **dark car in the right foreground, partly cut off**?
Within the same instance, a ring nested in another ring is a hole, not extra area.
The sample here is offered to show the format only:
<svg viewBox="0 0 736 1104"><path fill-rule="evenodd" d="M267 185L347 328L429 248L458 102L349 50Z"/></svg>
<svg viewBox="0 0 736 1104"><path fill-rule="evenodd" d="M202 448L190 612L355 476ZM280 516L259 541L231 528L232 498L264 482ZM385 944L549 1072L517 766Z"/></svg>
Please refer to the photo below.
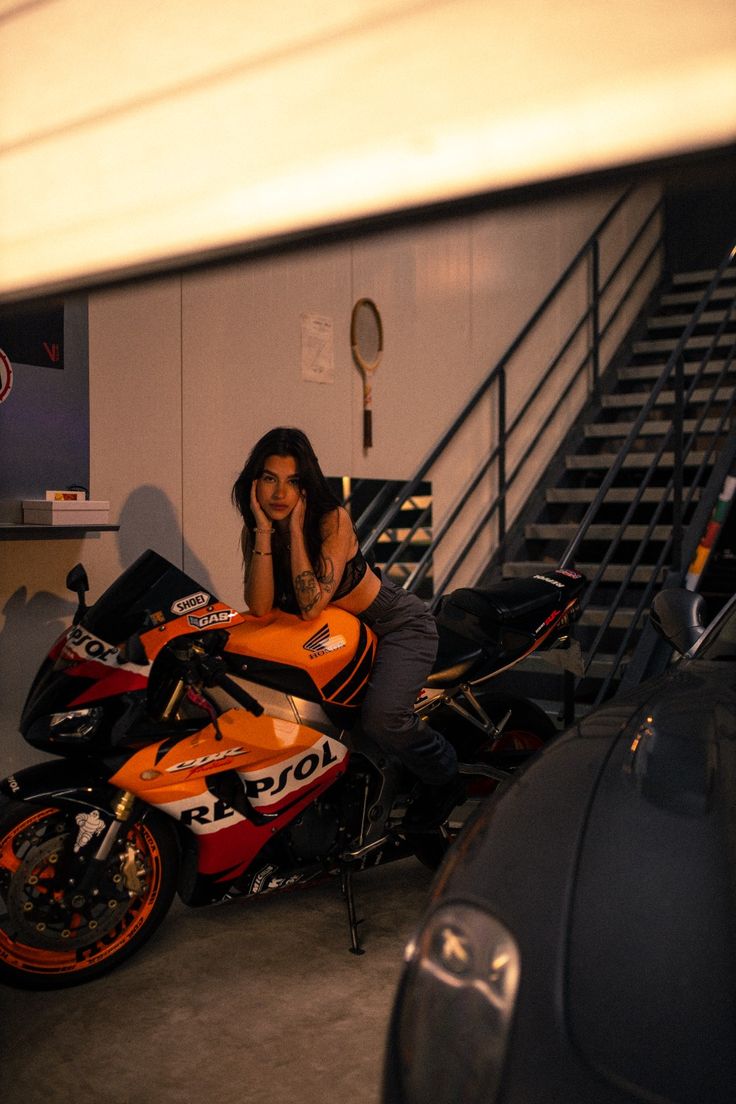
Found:
<svg viewBox="0 0 736 1104"><path fill-rule="evenodd" d="M736 1102L736 597L663 591L670 670L558 736L440 869L384 1104Z"/></svg>

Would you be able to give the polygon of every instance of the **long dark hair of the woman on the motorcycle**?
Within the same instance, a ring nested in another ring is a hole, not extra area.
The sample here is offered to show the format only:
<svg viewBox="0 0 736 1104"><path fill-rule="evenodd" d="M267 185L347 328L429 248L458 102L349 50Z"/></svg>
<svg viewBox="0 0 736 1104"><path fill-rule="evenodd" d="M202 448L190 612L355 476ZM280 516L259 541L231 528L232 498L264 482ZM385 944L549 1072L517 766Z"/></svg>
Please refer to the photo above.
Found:
<svg viewBox="0 0 736 1104"><path fill-rule="evenodd" d="M253 446L245 466L233 485L233 505L243 518L246 552L252 540L256 519L250 509L250 488L253 480L263 475L266 459L269 456L292 456L297 463L299 482L307 492L307 512L305 514L305 542L312 567L321 573L322 564L322 519L340 506L340 499L328 487L322 475L319 460L314 455L309 437L301 429L292 426L277 426L264 434Z"/></svg>

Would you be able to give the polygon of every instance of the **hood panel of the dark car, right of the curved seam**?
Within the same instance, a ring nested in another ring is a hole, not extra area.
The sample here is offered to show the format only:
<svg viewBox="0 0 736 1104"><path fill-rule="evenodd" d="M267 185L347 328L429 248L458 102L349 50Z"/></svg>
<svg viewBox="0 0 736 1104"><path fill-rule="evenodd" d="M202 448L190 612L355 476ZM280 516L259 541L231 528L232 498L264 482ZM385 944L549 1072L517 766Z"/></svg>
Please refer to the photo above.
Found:
<svg viewBox="0 0 736 1104"><path fill-rule="evenodd" d="M678 1102L736 1083L734 673L683 664L648 688L595 787L570 910L574 1044Z"/></svg>

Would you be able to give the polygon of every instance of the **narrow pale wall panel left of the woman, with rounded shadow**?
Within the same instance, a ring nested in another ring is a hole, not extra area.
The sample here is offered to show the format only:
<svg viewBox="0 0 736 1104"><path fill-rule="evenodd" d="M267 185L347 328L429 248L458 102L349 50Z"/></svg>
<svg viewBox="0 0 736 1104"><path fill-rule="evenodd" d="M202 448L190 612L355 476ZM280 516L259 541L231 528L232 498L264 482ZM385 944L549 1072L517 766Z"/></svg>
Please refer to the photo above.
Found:
<svg viewBox="0 0 736 1104"><path fill-rule="evenodd" d="M179 277L90 297L89 423L92 491L120 523L95 545L97 586L147 548L181 565Z"/></svg>

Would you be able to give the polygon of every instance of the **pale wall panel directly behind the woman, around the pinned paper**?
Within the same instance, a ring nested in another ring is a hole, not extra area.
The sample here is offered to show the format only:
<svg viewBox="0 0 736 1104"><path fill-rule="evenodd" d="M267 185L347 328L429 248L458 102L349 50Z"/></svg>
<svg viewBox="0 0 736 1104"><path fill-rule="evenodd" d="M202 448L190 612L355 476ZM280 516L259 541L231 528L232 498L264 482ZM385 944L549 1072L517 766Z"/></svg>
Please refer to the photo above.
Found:
<svg viewBox="0 0 736 1104"><path fill-rule="evenodd" d="M183 458L188 548L215 593L242 603L233 482L276 425L302 428L327 475L350 473L354 376L350 247L305 251L183 282ZM302 312L333 323L334 382L301 374ZM189 569L188 569L189 570Z"/></svg>

